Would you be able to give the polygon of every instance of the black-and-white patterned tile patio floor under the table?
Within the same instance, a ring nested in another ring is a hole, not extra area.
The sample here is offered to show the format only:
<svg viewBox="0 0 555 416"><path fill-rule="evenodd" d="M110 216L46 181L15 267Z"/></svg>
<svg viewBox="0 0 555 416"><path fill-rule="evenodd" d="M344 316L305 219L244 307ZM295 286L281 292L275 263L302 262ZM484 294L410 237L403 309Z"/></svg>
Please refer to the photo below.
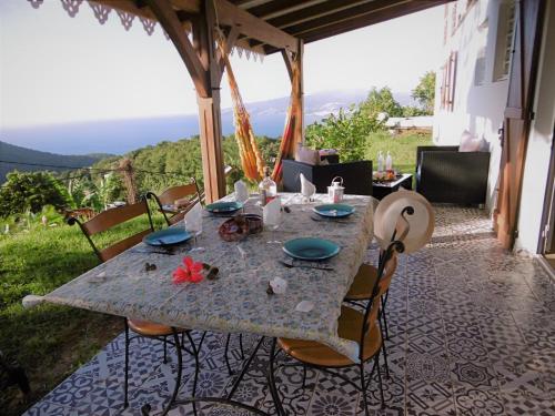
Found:
<svg viewBox="0 0 555 416"><path fill-rule="evenodd" d="M504 253L483 211L436 206L432 243L403 256L389 303L391 378L384 381L386 409L376 415L555 415L555 290L533 260ZM369 252L369 260L373 253ZM240 354L233 345L232 364ZM29 410L29 415L113 415L122 412L123 342L109 344L93 361ZM229 388L225 337L209 334L202 348L201 395ZM254 337L246 337L252 345ZM268 347L254 359L235 398L272 412L265 386ZM175 365L161 364L162 346L137 341L131 358L131 407L161 408L173 386ZM172 359L174 363L175 359ZM186 359L182 395L191 390ZM362 414L360 397L340 379L299 368L278 376L292 415ZM355 373L353 373L355 374ZM354 377L354 376L353 376ZM205 407L203 415L231 415ZM172 415L190 415L178 408ZM238 413L239 414L239 413ZM244 414L244 413L243 413Z"/></svg>

